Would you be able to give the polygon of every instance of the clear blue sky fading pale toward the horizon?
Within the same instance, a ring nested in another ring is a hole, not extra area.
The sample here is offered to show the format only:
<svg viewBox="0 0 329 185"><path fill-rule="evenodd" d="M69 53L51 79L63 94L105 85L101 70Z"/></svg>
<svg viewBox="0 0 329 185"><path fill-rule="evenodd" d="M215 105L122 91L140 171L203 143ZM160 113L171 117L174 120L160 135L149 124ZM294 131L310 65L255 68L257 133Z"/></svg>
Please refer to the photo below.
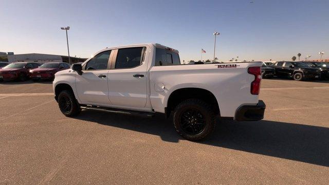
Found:
<svg viewBox="0 0 329 185"><path fill-rule="evenodd" d="M253 2L253 3L250 3ZM185 61L329 58L329 1L0 0L0 51L89 58L105 47L159 43ZM298 58L298 57L297 57Z"/></svg>

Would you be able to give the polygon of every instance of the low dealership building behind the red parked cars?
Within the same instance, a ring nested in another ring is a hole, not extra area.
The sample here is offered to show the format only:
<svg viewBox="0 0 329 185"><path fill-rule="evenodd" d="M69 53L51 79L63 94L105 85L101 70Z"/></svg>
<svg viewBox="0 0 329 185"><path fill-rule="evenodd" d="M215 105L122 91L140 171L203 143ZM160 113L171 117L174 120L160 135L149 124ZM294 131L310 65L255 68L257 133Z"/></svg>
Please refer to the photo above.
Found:
<svg viewBox="0 0 329 185"><path fill-rule="evenodd" d="M68 57L64 55L56 54L42 54L42 53L27 53L27 54L14 54L13 52L8 52L6 54L1 54L3 57L8 58L8 62L38 62L38 63L47 63L47 62L66 62L69 63ZM71 63L84 62L85 58L70 57Z"/></svg>

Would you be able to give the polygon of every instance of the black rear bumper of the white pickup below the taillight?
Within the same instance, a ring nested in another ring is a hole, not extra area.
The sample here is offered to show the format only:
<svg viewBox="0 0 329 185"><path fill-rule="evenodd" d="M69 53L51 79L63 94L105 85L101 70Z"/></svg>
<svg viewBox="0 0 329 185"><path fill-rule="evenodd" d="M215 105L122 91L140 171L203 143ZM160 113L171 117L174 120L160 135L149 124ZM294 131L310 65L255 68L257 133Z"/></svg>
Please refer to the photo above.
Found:
<svg viewBox="0 0 329 185"><path fill-rule="evenodd" d="M259 100L257 105L243 105L237 109L235 114L236 121L258 121L264 118L266 105Z"/></svg>

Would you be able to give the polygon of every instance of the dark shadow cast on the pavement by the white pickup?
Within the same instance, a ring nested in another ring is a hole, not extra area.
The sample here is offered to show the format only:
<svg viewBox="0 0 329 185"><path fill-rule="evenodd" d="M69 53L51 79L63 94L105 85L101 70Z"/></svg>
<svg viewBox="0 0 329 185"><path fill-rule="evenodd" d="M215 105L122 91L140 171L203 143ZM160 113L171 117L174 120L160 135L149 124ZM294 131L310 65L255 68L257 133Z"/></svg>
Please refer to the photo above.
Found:
<svg viewBox="0 0 329 185"><path fill-rule="evenodd" d="M172 119L163 115L141 118L85 110L76 119L158 135L168 142L184 140L177 135ZM223 120L217 123L210 138L198 143L329 167L327 127L268 120Z"/></svg>

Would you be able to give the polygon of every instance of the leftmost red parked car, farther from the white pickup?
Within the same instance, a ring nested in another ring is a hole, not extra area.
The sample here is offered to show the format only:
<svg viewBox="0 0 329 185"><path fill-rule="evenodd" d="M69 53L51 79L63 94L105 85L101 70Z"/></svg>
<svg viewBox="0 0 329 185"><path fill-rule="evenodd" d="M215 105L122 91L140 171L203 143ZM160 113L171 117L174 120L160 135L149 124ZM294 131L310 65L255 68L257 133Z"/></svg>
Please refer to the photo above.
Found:
<svg viewBox="0 0 329 185"><path fill-rule="evenodd" d="M30 69L39 67L39 63L35 62L15 62L8 64L0 69L0 81L3 80L21 80L25 81L29 78Z"/></svg>

